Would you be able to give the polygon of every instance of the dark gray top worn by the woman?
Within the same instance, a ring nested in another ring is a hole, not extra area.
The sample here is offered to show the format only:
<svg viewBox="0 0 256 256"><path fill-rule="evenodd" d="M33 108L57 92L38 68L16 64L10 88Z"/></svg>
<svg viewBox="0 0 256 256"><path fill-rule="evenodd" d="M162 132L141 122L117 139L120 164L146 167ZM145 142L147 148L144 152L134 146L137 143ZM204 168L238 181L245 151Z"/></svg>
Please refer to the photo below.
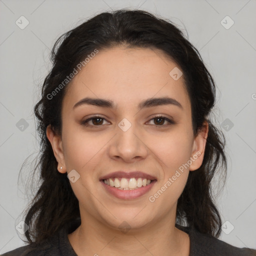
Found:
<svg viewBox="0 0 256 256"><path fill-rule="evenodd" d="M74 220L69 226L63 227L57 234L44 240L37 247L32 247L28 244L8 251L1 256L77 256L68 240L67 234L73 232L80 223L80 218ZM256 256L255 249L238 248L212 235L202 234L194 228L179 224L175 224L175 226L188 233L190 237L189 256Z"/></svg>

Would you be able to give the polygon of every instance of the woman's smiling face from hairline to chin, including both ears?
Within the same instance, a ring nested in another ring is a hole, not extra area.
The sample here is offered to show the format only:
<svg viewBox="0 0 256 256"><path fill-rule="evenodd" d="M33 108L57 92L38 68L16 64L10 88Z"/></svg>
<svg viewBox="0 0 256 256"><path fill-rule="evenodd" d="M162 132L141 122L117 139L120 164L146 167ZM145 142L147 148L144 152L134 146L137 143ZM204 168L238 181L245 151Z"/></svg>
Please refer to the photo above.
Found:
<svg viewBox="0 0 256 256"><path fill-rule="evenodd" d="M68 85L62 134L47 127L47 137L58 170L72 170L81 218L116 229L123 221L143 228L175 219L177 199L189 170L202 163L207 136L207 129L193 135L183 76L169 74L175 67L160 50L115 47L100 50ZM116 171L125 173L111 174ZM121 186L137 189L112 187L109 179L105 184L107 176L114 186L116 177ZM143 178L152 181L141 185Z"/></svg>

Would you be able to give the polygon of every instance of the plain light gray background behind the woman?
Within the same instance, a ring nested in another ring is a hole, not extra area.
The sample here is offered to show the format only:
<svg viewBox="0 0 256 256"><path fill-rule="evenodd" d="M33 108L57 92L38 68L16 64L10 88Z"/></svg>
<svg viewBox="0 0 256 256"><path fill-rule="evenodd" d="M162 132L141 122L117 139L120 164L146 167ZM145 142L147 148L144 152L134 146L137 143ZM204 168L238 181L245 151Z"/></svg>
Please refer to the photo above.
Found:
<svg viewBox="0 0 256 256"><path fill-rule="evenodd" d="M25 190L30 165L19 180L18 173L39 149L32 108L51 66L50 49L59 35L85 19L122 7L175 22L213 75L215 124L226 136L228 158L227 182L216 198L223 222L228 221L219 239L256 248L255 0L0 0L0 253L25 244L15 226L33 193ZM15 23L21 23L21 15L29 21L24 29ZM228 29L227 15L234 21Z"/></svg>

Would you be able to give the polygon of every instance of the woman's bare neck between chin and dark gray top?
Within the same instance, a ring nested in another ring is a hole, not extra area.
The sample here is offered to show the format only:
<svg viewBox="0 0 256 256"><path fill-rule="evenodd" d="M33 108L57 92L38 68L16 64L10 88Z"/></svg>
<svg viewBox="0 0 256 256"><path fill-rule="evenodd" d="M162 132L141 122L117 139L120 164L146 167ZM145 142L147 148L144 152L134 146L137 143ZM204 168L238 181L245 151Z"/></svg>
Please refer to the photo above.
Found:
<svg viewBox="0 0 256 256"><path fill-rule="evenodd" d="M133 256L136 255L189 255L189 236L175 227L175 222L168 215L156 223L147 224L138 229L114 229L95 218L81 218L81 225L68 239L78 256Z"/></svg>

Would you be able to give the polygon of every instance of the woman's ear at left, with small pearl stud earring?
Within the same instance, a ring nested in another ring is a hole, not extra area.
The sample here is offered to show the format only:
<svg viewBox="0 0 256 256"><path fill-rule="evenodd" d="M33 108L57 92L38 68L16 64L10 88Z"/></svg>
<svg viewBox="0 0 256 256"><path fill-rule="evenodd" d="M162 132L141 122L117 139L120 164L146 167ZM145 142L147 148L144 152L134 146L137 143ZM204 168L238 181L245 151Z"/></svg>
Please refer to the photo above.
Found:
<svg viewBox="0 0 256 256"><path fill-rule="evenodd" d="M54 156L58 162L58 167L57 167L58 171L60 173L65 173L66 167L65 167L65 161L64 161L64 153L63 153L61 136L55 134L50 124L46 128L46 136L50 141ZM62 169L60 169L61 166L62 166Z"/></svg>

